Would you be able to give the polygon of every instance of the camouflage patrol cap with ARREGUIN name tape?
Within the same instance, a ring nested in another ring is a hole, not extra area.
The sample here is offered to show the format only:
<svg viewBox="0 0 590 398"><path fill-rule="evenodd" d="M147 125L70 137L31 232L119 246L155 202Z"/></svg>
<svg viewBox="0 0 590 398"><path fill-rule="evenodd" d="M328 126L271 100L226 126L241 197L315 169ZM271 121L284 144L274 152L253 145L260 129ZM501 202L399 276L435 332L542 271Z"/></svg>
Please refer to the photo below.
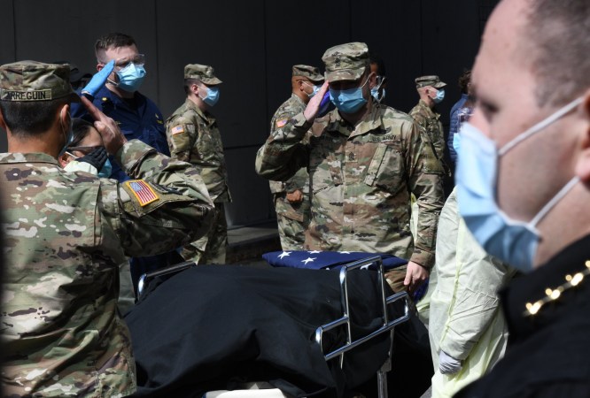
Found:
<svg viewBox="0 0 590 398"><path fill-rule="evenodd" d="M0 66L1 101L50 101L68 97L80 102L70 84L70 66L20 61Z"/></svg>

